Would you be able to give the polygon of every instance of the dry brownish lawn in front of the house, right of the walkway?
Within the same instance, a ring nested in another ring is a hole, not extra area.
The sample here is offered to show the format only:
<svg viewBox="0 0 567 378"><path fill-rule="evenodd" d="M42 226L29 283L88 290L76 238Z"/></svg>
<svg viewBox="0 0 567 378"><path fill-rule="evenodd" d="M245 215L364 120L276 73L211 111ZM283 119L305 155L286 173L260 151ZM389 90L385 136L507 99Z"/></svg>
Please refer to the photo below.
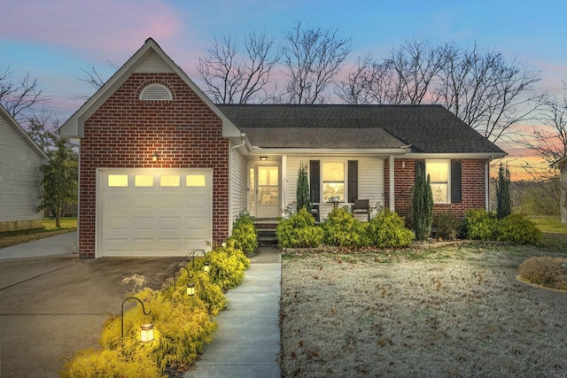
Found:
<svg viewBox="0 0 567 378"><path fill-rule="evenodd" d="M542 253L284 255L283 376L567 376L567 295L516 280Z"/></svg>

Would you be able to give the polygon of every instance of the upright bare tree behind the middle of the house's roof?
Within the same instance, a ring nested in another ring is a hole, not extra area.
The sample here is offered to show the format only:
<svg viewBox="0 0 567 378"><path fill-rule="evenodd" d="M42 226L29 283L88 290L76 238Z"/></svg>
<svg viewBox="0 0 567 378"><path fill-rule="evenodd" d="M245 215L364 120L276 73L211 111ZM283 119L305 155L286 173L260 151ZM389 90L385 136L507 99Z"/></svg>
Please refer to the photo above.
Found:
<svg viewBox="0 0 567 378"><path fill-rule="evenodd" d="M315 104L325 101L325 89L334 81L351 51L350 39L335 28L304 29L301 23L286 30L283 66L289 76L283 101Z"/></svg>

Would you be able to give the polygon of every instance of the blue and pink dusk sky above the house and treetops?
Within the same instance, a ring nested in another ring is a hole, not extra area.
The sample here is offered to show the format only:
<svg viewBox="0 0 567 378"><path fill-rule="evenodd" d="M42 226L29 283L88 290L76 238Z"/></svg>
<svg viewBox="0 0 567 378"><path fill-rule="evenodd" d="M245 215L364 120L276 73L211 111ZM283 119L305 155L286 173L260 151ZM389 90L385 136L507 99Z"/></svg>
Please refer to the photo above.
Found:
<svg viewBox="0 0 567 378"><path fill-rule="evenodd" d="M462 47L476 42L540 70L535 89L559 94L567 80L566 14L564 0L6 1L0 68L10 66L14 80L27 72L38 79L64 121L84 101L76 97L93 92L79 81L82 69L94 66L108 78L109 62L121 66L148 37L197 81L198 58L215 37L265 30L280 42L283 30L300 21L352 38L350 62L367 53L380 58L412 39Z"/></svg>

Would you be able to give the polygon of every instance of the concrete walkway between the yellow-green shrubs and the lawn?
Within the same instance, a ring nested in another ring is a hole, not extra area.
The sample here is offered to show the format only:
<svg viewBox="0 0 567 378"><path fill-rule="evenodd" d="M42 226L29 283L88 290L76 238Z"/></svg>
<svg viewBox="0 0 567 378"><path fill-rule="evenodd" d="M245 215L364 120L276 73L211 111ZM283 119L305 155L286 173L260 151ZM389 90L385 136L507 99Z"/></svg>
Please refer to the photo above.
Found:
<svg viewBox="0 0 567 378"><path fill-rule="evenodd" d="M251 258L242 284L226 295L229 307L216 319L219 330L213 342L185 378L280 378L281 282L279 251L272 258L261 252Z"/></svg>

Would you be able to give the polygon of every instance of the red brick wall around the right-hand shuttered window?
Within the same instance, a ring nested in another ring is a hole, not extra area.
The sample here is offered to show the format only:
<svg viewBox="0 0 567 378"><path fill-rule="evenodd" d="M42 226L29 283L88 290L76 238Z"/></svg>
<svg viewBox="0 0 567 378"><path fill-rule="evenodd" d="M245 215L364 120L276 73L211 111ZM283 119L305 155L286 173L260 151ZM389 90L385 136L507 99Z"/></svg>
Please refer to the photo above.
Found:
<svg viewBox="0 0 567 378"><path fill-rule="evenodd" d="M434 213L447 212L462 217L467 209L485 208L485 160L462 159L462 202L460 204L435 204ZM390 166L384 162L385 207L390 205ZM413 223L412 189L416 181L416 161L396 159L394 161L395 208L406 224Z"/></svg>

